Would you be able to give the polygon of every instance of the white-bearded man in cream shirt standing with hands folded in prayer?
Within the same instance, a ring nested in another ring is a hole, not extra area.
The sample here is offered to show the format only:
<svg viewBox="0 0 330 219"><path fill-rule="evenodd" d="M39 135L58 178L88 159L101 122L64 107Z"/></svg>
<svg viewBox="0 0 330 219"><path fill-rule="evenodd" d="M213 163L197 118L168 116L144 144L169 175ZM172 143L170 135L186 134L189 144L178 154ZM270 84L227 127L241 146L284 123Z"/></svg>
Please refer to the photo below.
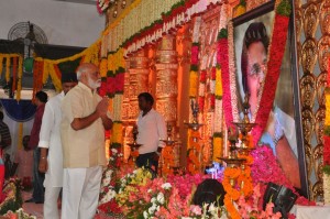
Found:
<svg viewBox="0 0 330 219"><path fill-rule="evenodd" d="M62 102L63 145L62 219L92 219L98 206L102 166L106 165L105 130L112 127L108 98L101 98L99 69L81 64L78 85Z"/></svg>

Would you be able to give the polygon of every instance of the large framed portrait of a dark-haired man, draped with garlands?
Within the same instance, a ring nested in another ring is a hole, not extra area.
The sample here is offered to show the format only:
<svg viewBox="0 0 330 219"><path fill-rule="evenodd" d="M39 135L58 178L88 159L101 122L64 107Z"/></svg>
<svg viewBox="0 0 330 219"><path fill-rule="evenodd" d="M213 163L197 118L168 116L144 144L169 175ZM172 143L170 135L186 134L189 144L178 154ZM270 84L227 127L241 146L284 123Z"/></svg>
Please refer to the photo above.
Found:
<svg viewBox="0 0 330 219"><path fill-rule="evenodd" d="M275 1L272 0L232 20L237 80L237 91L232 95L237 96L240 118L242 119L242 102L249 94L246 98L251 105L249 117L252 122L254 122L257 110L262 108L258 103L261 95L265 92L263 90L263 81L267 69L268 45L271 44L275 17L274 7ZM270 113L268 123L261 142L272 147L288 179L298 188L301 195L308 197L294 33L294 14L292 13L279 79L277 85L274 85L276 95L273 110ZM279 145L279 141L280 147L289 150L287 154L292 155L292 158L289 158L292 163L287 163L287 157L283 160L283 155L279 154L283 151L276 149ZM282 144L287 145L282 146ZM299 172L297 169L294 172L293 166L297 166Z"/></svg>

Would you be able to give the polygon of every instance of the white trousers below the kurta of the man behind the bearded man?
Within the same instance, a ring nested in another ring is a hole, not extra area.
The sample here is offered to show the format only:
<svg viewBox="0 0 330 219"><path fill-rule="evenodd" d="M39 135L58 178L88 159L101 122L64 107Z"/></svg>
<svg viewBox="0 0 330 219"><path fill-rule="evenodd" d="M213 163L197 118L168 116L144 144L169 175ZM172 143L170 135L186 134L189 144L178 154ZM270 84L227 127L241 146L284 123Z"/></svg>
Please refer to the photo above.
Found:
<svg viewBox="0 0 330 219"><path fill-rule="evenodd" d="M58 219L57 199L62 187L45 187L44 219Z"/></svg>

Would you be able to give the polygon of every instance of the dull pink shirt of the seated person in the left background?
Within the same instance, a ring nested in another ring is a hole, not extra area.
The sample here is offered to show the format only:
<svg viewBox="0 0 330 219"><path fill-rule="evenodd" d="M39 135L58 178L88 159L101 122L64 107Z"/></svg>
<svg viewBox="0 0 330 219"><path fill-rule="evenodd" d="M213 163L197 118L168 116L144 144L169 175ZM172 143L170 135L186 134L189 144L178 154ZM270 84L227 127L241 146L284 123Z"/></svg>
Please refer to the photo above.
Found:
<svg viewBox="0 0 330 219"><path fill-rule="evenodd" d="M33 173L33 150L19 150L14 156L14 163L18 163L18 177L31 177Z"/></svg>

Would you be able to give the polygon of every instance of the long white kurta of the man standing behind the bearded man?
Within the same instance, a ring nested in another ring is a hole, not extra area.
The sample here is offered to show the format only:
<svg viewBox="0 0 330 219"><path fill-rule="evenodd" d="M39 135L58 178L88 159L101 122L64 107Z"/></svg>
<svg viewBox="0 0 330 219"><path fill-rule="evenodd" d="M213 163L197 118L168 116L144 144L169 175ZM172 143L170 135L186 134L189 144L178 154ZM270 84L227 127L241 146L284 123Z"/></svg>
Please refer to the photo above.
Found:
<svg viewBox="0 0 330 219"><path fill-rule="evenodd" d="M48 185L51 187L62 187L63 185L63 152L59 132L63 98L64 91L47 101L40 130L38 147L48 149L48 169L45 175L45 187Z"/></svg>

